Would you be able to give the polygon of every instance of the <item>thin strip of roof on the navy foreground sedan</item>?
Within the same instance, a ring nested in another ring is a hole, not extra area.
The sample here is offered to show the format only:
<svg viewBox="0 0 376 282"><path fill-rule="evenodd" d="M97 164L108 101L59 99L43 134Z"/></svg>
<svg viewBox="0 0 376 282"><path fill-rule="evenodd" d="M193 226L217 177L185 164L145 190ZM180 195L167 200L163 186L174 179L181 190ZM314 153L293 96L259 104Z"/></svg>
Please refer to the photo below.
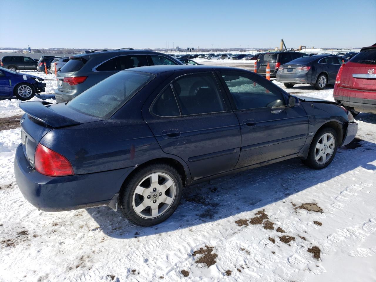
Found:
<svg viewBox="0 0 376 282"><path fill-rule="evenodd" d="M151 74L160 74L165 73L166 71L179 71L179 70L241 70L241 68L233 68L233 67L217 67L217 66L210 66L210 65L152 65L147 67L138 67L138 68L131 68L123 71L144 71L146 73Z"/></svg>

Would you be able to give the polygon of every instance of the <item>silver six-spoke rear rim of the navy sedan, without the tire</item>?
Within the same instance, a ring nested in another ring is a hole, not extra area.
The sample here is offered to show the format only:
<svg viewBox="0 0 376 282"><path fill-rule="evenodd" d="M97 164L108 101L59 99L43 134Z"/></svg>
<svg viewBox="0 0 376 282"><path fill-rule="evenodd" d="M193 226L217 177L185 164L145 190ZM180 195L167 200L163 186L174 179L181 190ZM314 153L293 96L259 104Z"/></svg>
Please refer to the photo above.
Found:
<svg viewBox="0 0 376 282"><path fill-rule="evenodd" d="M165 173L152 173L136 186L132 196L133 210L140 217L156 218L168 211L175 196L172 178Z"/></svg>

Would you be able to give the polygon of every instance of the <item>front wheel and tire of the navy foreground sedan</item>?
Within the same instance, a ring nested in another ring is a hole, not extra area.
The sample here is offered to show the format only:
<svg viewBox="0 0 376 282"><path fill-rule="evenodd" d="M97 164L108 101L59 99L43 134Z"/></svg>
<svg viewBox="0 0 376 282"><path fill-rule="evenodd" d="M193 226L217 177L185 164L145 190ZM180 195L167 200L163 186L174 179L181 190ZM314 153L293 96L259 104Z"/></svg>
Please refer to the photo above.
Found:
<svg viewBox="0 0 376 282"><path fill-rule="evenodd" d="M338 148L337 132L331 127L320 129L312 139L308 157L303 164L314 169L327 167L334 159Z"/></svg>

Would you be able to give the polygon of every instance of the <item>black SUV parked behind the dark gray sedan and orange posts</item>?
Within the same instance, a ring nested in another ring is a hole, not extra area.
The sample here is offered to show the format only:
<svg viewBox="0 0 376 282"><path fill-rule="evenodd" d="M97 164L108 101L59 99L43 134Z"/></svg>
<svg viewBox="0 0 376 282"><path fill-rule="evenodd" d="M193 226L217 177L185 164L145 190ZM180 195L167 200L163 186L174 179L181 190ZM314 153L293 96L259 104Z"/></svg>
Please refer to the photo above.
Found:
<svg viewBox="0 0 376 282"><path fill-rule="evenodd" d="M303 56L307 56L307 54L293 51L261 53L257 58L257 73L262 76L266 76L266 67L269 63L270 77L276 77L280 65L286 64Z"/></svg>

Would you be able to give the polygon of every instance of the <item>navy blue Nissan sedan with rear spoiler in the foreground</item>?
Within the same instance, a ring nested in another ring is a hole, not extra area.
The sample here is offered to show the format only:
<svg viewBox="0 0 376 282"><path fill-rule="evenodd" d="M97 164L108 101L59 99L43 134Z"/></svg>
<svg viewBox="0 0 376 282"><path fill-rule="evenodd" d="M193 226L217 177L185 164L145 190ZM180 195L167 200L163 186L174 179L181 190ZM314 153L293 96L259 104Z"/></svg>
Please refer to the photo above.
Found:
<svg viewBox="0 0 376 282"><path fill-rule="evenodd" d="M20 107L14 170L32 205L120 206L143 226L167 219L195 183L290 158L324 168L358 129L338 103L203 65L132 68L68 103Z"/></svg>

